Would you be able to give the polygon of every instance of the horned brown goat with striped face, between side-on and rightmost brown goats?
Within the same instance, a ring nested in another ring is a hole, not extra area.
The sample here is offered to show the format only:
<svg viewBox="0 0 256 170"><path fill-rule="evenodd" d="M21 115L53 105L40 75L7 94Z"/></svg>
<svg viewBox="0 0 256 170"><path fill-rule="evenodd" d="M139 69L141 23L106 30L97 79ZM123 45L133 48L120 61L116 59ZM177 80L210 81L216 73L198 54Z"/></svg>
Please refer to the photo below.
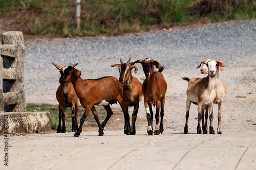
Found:
<svg viewBox="0 0 256 170"><path fill-rule="evenodd" d="M137 73L138 67L135 65L130 65L131 57L126 63L123 63L123 60L120 59L121 64L113 64L112 67L118 67L119 69L119 82L123 85L123 100L125 103L125 109L128 112L128 107L133 106L133 115L132 115L132 128L131 128L131 135L136 134L135 123L137 119L137 114L139 110L139 102L142 99L143 92L142 92L142 84L136 78L132 76L132 69L135 68L134 72ZM129 116L130 122L130 116ZM124 124L124 134L126 133L126 123Z"/></svg>

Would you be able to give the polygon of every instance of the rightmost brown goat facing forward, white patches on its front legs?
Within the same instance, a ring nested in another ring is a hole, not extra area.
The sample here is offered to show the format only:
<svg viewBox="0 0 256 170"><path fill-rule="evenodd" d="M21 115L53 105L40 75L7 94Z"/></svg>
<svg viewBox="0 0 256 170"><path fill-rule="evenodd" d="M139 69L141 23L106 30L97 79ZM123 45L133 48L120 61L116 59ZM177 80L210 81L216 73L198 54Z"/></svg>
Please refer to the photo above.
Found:
<svg viewBox="0 0 256 170"><path fill-rule="evenodd" d="M164 104L165 104L165 93L167 90L167 83L164 80L162 75L162 71L164 66L161 66L155 60L151 58L145 58L144 60L137 60L135 62L131 62L131 65L135 63L141 63L143 67L144 74L146 79L142 84L142 91L144 95L144 106L146 111L147 118L147 134L153 135L153 111L152 104L156 105L156 128L155 135L159 135L163 133L163 116L164 116ZM154 71L154 65L156 68L159 68L158 71ZM161 107L161 122L159 126L159 110Z"/></svg>

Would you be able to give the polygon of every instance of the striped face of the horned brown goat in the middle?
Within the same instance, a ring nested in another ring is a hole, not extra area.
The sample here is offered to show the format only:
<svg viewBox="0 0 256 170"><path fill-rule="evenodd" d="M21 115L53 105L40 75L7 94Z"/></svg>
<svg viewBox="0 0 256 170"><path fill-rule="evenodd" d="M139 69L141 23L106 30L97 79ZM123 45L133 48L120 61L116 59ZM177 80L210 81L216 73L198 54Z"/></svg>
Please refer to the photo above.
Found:
<svg viewBox="0 0 256 170"><path fill-rule="evenodd" d="M121 64L113 64L112 67L118 67L119 69L119 81L121 84L125 83L132 75L132 69L135 68L134 72L137 73L138 67L135 65L130 65L131 58L127 61L127 63L123 63L122 59L120 59Z"/></svg>

